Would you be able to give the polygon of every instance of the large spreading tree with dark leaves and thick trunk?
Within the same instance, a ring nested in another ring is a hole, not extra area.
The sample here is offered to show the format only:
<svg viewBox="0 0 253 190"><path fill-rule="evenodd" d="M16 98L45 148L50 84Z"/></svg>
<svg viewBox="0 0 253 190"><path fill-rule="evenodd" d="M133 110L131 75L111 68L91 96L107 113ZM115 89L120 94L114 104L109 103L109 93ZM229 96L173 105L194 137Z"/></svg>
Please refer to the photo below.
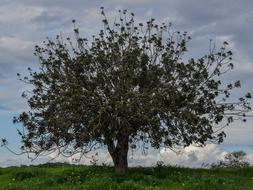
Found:
<svg viewBox="0 0 253 190"><path fill-rule="evenodd" d="M74 24L73 41L47 39L35 47L39 70L18 74L33 88L23 93L29 110L14 118L24 126L25 152L81 158L105 146L116 171L125 172L128 150L139 142L154 148L220 143L224 126L245 121L250 94L231 100L240 82L221 81L233 69L227 42L218 50L210 42L207 55L186 61L186 32L154 19L136 23L126 10L111 24L103 8L101 14L98 36L82 38Z"/></svg>

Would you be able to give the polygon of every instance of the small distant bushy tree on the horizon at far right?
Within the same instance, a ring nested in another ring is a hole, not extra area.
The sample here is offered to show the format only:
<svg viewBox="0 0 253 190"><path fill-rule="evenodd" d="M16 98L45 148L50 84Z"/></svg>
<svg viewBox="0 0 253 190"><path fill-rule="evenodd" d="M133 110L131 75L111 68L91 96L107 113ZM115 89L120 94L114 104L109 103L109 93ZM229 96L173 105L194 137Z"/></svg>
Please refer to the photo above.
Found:
<svg viewBox="0 0 253 190"><path fill-rule="evenodd" d="M247 154L244 151L234 151L227 153L224 160L211 164L212 168L242 168L250 164L246 159Z"/></svg>

